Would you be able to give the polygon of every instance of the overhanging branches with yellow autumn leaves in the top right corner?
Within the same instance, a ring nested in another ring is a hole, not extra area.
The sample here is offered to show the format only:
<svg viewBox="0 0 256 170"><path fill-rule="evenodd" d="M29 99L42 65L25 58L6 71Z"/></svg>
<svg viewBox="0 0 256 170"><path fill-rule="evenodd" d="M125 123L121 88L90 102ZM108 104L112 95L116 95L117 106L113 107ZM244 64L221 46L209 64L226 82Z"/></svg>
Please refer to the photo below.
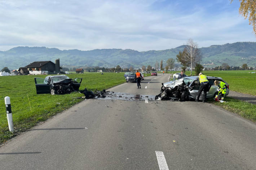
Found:
<svg viewBox="0 0 256 170"><path fill-rule="evenodd" d="M246 19L249 19L249 25L252 25L253 32L256 36L256 1L255 0L239 0L240 1L240 8L239 14ZM231 0L231 3L233 0Z"/></svg>

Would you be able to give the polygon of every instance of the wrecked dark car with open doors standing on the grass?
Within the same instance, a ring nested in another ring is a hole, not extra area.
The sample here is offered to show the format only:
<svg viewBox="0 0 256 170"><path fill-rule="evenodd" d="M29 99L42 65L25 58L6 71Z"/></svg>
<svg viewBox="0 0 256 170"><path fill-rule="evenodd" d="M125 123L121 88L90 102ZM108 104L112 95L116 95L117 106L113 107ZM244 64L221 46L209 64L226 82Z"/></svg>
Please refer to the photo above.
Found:
<svg viewBox="0 0 256 170"><path fill-rule="evenodd" d="M36 94L50 93L66 94L78 91L82 78L69 78L66 75L48 75L43 78L35 78Z"/></svg>

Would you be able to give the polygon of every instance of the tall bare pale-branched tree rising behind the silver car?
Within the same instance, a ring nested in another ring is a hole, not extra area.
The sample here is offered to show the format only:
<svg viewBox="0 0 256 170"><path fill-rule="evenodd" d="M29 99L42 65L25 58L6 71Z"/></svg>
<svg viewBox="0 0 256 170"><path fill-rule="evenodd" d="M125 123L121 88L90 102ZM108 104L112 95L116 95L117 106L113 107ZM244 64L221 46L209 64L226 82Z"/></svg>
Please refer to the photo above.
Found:
<svg viewBox="0 0 256 170"><path fill-rule="evenodd" d="M184 61L187 61L190 64L190 75L192 75L192 66L194 65L194 63L199 62L202 58L197 43L195 43L192 39L189 39L183 52Z"/></svg>

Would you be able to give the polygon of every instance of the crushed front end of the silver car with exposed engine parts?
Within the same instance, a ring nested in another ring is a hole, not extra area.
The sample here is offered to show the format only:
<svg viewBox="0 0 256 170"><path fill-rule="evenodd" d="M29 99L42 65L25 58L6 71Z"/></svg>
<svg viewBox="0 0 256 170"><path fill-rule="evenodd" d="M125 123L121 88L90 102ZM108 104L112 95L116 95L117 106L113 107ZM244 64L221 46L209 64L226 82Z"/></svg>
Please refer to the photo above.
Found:
<svg viewBox="0 0 256 170"><path fill-rule="evenodd" d="M185 101L188 97L189 87L182 82L174 87L165 87L162 83L160 94L155 96L156 100Z"/></svg>

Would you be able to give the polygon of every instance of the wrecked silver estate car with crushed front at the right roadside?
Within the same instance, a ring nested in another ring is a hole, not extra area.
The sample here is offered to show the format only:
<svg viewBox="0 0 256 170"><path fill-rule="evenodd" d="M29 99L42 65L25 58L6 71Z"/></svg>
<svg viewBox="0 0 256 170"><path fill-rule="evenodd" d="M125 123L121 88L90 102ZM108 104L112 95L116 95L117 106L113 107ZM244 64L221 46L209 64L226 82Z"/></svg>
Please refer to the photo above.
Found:
<svg viewBox="0 0 256 170"><path fill-rule="evenodd" d="M194 100L197 97L197 92L200 87L197 78L197 76L189 76L181 79L173 78L173 81L162 83L160 94L157 95L156 98L160 98L161 100ZM215 80L226 83L228 89L225 96L229 94L229 84L222 78L207 76L207 79L209 81L207 98L213 98L215 96L218 89L218 87L214 85ZM204 92L201 93L199 100L203 99L203 93Z"/></svg>

